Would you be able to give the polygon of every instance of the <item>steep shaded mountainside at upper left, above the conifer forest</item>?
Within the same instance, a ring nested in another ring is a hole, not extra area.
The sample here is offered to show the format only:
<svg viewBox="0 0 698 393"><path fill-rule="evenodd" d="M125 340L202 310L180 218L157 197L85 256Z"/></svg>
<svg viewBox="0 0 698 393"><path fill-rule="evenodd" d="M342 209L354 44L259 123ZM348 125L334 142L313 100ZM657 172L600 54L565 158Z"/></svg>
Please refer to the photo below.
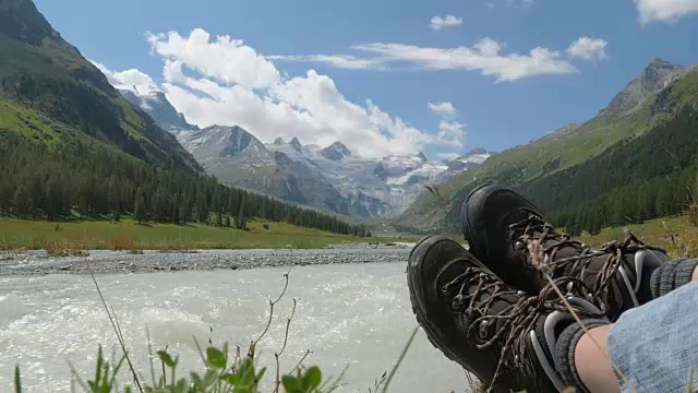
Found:
<svg viewBox="0 0 698 393"><path fill-rule="evenodd" d="M0 132L49 145L98 143L161 168L202 168L131 105L31 0L0 2Z"/></svg>

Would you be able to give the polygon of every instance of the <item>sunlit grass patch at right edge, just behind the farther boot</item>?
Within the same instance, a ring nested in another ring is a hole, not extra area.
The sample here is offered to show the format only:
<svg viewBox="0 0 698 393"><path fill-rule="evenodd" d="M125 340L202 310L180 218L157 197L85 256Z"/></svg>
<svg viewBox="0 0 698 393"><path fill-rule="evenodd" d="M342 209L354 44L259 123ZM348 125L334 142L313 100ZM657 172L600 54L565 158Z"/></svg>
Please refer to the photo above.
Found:
<svg viewBox="0 0 698 393"><path fill-rule="evenodd" d="M698 257L698 227L690 225L687 215L628 225L635 236L650 246L661 247L672 257ZM604 228L600 234L583 234L577 240L599 247L611 240L623 240L623 227Z"/></svg>

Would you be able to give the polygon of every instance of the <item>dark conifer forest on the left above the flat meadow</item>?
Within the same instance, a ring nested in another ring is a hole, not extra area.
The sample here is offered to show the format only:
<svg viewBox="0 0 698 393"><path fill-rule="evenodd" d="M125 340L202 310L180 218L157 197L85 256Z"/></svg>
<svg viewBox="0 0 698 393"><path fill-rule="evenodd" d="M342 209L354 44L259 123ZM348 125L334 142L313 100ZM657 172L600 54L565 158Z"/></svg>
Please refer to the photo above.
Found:
<svg viewBox="0 0 698 393"><path fill-rule="evenodd" d="M363 226L221 186L216 179L154 168L88 140L51 150L12 132L0 132L0 214L65 219L76 214L222 225L248 217L358 236ZM217 222L217 223L216 223Z"/></svg>

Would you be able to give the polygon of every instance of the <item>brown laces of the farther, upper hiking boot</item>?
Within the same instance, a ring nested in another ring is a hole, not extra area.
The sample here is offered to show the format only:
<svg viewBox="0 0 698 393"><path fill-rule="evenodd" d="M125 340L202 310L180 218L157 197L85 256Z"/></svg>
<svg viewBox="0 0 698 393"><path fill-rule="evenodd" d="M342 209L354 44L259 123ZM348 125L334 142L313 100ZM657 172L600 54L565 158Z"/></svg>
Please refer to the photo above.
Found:
<svg viewBox="0 0 698 393"><path fill-rule="evenodd" d="M613 282L618 269L623 265L623 255L626 253L637 252L639 250L655 250L664 252L664 250L645 245L629 229L625 229L625 239L623 241L612 240L605 242L600 249L593 250L590 246L573 240L566 234L558 234L555 228L543 222L537 215L530 215L527 219L509 225L510 236L514 238L517 233L522 235L518 237L516 248L519 251L527 249L532 240L538 240L543 246L544 264L541 267L544 273L564 272L566 276L585 277L585 273L589 264L597 257L605 257L606 260L598 272L594 272L593 283L590 283L590 296L587 298L591 302L597 303L603 311L607 309L605 301L609 298L610 284ZM514 240L514 239L512 239ZM568 258L556 259L556 253L563 248L574 248L575 254ZM589 284L588 284L589 285Z"/></svg>

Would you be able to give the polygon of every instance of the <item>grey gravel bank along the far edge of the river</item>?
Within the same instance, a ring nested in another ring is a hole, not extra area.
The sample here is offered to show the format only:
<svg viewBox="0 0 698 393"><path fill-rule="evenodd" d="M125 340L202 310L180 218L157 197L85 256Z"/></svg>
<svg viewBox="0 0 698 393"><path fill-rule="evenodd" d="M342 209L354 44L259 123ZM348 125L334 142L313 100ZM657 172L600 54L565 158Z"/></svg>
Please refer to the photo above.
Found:
<svg viewBox="0 0 698 393"><path fill-rule="evenodd" d="M88 257L49 258L45 251L0 253L0 275L148 273L255 269L333 263L407 262L409 245L342 245L318 250L193 250L181 252L88 251Z"/></svg>

